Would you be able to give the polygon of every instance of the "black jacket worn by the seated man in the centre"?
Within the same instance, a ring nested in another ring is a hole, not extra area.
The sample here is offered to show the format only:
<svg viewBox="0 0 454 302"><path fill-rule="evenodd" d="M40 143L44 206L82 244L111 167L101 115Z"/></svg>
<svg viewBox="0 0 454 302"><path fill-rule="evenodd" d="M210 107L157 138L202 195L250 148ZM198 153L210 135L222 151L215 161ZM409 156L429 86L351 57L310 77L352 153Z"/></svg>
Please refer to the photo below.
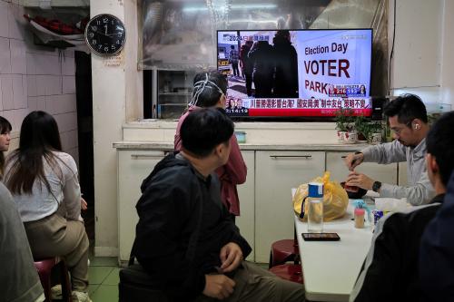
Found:
<svg viewBox="0 0 454 302"><path fill-rule="evenodd" d="M133 253L156 288L191 300L202 293L204 275L221 266L225 244L237 243L244 258L251 247L222 205L217 176L203 180L189 161L175 155L166 156L143 180ZM191 238L193 248L188 247Z"/></svg>

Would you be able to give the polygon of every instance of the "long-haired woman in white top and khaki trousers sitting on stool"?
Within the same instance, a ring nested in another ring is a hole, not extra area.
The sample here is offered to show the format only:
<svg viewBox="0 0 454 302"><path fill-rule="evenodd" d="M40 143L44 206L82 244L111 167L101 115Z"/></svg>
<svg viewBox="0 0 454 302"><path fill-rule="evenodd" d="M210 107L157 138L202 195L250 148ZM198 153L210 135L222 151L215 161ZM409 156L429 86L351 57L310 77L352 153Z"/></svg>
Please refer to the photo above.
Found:
<svg viewBox="0 0 454 302"><path fill-rule="evenodd" d="M13 194L35 259L65 258L74 301L91 301L88 238L81 217L77 167L64 153L54 118L31 112L21 127L19 148L7 158L5 184Z"/></svg>

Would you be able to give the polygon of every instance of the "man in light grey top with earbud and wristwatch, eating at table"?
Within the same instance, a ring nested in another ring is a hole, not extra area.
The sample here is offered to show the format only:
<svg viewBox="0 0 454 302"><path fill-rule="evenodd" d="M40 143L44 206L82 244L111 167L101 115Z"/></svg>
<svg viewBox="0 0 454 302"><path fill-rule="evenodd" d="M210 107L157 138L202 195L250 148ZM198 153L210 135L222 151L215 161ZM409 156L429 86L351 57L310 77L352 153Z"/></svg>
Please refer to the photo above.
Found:
<svg viewBox="0 0 454 302"><path fill-rule="evenodd" d="M380 197L407 198L412 205L426 204L435 196L426 167L426 135L429 132L426 106L414 94L403 94L384 109L394 141L350 153L345 163L350 170L346 184L380 193ZM407 161L408 186L372 180L354 169L361 162L389 164Z"/></svg>

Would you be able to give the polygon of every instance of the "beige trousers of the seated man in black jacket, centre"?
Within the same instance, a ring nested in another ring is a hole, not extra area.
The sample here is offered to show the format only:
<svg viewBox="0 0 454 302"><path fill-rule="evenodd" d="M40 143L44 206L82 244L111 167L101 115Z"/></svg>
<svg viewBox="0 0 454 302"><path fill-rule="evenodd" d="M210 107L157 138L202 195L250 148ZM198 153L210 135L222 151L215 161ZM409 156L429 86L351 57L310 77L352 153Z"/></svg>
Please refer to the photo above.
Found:
<svg viewBox="0 0 454 302"><path fill-rule="evenodd" d="M235 287L232 296L222 300L225 302L267 301L267 302L302 302L304 287L302 284L287 281L277 277L266 269L250 262L242 262L235 276ZM200 296L196 302L219 301Z"/></svg>

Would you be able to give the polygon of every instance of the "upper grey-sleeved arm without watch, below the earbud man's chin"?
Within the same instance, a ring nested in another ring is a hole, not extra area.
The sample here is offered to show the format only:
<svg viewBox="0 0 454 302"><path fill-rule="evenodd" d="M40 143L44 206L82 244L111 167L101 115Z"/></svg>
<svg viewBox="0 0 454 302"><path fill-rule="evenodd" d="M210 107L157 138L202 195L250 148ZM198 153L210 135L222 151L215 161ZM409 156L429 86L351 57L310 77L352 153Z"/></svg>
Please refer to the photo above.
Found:
<svg viewBox="0 0 454 302"><path fill-rule="evenodd" d="M387 164L407 161L406 147L397 140L373 145L361 150L361 152L364 155L364 162Z"/></svg>

